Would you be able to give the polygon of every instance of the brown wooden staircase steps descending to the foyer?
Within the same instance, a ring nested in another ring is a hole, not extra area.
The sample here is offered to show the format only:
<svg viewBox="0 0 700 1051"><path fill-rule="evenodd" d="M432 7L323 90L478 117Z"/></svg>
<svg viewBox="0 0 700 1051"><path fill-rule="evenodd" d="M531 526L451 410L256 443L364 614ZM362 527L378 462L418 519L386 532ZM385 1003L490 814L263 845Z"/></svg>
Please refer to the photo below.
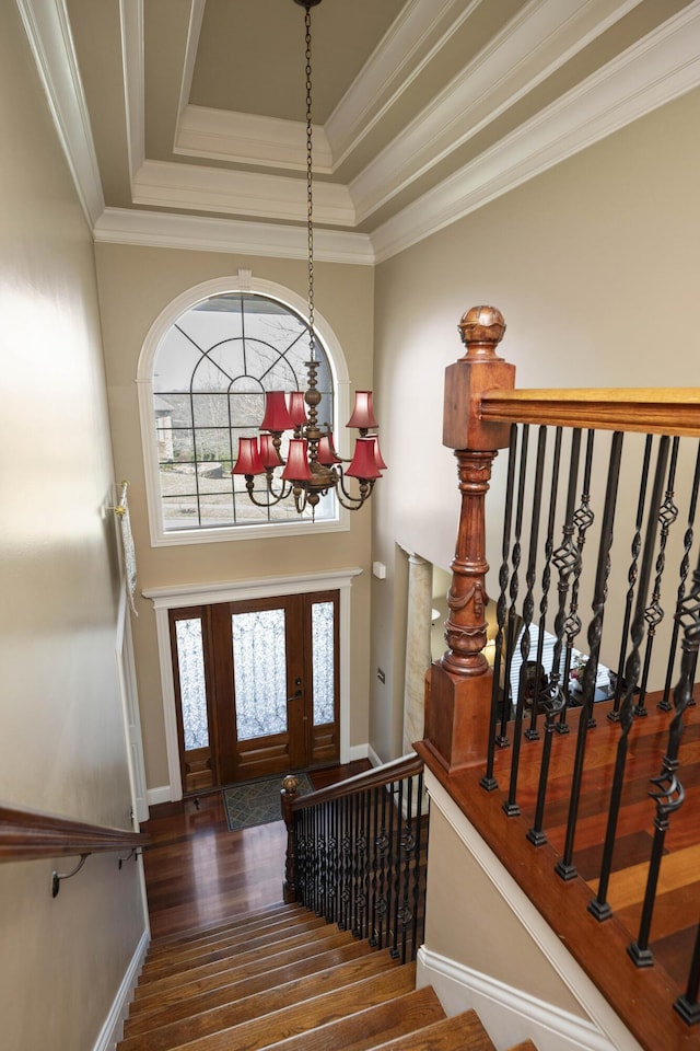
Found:
<svg viewBox="0 0 700 1051"><path fill-rule="evenodd" d="M118 1051L495 1051L399 965L301 905L154 940ZM525 1041L512 1051L536 1051Z"/></svg>

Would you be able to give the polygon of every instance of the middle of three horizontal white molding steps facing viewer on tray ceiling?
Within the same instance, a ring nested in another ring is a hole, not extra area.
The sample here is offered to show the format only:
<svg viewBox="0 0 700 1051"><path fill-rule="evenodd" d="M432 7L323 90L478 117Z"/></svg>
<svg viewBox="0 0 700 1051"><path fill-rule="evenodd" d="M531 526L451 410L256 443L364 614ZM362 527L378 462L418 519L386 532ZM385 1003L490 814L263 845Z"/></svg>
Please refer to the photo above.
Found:
<svg viewBox="0 0 700 1051"><path fill-rule="evenodd" d="M132 197L137 205L261 216L291 222L305 221L307 210L303 178L170 161L147 160L133 176ZM348 187L315 182L314 219L330 226L354 226L354 206Z"/></svg>

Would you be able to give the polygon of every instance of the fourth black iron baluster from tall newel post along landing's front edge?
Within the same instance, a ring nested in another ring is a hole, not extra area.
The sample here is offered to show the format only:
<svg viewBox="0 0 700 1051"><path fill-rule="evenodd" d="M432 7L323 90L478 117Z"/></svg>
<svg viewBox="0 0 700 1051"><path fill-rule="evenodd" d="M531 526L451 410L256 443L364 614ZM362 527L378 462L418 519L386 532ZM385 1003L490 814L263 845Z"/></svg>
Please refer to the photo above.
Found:
<svg viewBox="0 0 700 1051"><path fill-rule="evenodd" d="M561 876L562 879L573 879L576 875L576 867L573 864L573 844L576 832L576 820L579 817L579 802L581 798L581 785L583 781L586 736L592 723L595 680L598 669L598 656L600 652L600 638L603 635L603 617L605 613L605 600L607 598L607 581L610 571L610 547L612 546L612 526L615 523L615 507L617 504L617 490L620 477L620 460L622 457L623 437L625 436L621 431L616 430L610 442L608 477L605 490L605 504L603 508L603 522L600 526L598 558L596 563L595 593L592 604L593 619L588 624L587 632L590 658L583 673L582 711L581 718L579 719L576 753L571 778L571 796L569 800L567 836L563 855L555 866L555 871Z"/></svg>

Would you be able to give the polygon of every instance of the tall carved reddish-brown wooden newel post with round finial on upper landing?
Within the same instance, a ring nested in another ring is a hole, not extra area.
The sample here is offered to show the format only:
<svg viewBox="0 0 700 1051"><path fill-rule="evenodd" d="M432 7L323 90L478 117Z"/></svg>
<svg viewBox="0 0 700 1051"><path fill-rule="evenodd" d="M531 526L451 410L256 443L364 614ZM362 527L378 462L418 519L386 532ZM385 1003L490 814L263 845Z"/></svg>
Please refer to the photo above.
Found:
<svg viewBox="0 0 700 1051"><path fill-rule="evenodd" d="M495 348L505 332L494 307L472 307L459 322L466 354L445 370L443 444L455 450L462 507L445 622L448 649L430 670L425 739L447 770L486 758L491 671L486 646L486 494L498 450L506 448L509 424L483 423L485 391L512 390L515 367Z"/></svg>

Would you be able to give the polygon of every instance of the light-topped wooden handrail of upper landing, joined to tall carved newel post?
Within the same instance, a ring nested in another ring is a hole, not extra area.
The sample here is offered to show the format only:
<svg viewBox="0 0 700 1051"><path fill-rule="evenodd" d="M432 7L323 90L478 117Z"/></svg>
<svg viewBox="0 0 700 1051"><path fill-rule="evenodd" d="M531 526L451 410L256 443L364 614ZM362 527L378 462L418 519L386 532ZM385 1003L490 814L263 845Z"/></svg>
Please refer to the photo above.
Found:
<svg viewBox="0 0 700 1051"><path fill-rule="evenodd" d="M483 423L700 436L697 386L489 390L478 396L477 412Z"/></svg>

